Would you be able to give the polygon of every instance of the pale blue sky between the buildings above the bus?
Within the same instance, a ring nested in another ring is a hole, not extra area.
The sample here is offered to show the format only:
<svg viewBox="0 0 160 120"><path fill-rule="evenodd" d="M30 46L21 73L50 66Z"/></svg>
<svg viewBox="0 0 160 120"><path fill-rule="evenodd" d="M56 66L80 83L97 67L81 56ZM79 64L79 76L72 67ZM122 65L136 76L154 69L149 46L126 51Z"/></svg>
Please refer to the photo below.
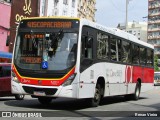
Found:
<svg viewBox="0 0 160 120"><path fill-rule="evenodd" d="M126 21L126 0L96 0L96 22L106 27L117 27ZM129 0L128 22L147 21L148 0Z"/></svg>

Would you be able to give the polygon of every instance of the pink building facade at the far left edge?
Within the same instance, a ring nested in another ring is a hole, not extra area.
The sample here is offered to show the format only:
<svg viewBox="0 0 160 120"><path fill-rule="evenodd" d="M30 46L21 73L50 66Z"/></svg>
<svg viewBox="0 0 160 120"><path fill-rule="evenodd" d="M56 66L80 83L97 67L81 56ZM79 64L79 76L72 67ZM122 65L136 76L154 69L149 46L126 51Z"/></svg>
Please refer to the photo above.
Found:
<svg viewBox="0 0 160 120"><path fill-rule="evenodd" d="M4 12L5 11L5 12ZM9 51L9 47L6 46L7 39L10 34L10 15L11 4L10 1L0 1L0 51Z"/></svg>

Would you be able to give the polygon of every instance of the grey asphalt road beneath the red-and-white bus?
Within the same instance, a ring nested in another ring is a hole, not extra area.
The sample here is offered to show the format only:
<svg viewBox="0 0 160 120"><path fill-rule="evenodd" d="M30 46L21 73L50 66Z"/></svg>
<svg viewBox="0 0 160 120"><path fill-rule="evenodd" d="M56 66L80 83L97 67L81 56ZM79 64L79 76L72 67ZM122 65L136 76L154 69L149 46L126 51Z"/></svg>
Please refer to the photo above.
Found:
<svg viewBox="0 0 160 120"><path fill-rule="evenodd" d="M160 86L141 93L138 101L125 100L123 96L106 97L98 107L89 107L85 100L58 98L48 106L41 105L37 99L25 96L17 101L14 97L0 98L2 119L139 119L160 117ZM12 118L10 118L12 116ZM42 116L42 118L40 118ZM157 117L159 116L159 117ZM13 118L14 117L14 118ZM47 117L47 118L46 118ZM0 118L0 119L1 119Z"/></svg>

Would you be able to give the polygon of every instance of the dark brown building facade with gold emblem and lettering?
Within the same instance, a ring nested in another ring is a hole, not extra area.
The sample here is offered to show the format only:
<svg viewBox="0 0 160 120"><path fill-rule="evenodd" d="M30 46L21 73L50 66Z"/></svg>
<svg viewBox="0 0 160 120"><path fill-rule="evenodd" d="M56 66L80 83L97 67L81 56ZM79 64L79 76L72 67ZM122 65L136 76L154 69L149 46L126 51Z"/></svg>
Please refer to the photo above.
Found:
<svg viewBox="0 0 160 120"><path fill-rule="evenodd" d="M39 16L39 0L12 0L9 51L13 51L16 28L23 18Z"/></svg>

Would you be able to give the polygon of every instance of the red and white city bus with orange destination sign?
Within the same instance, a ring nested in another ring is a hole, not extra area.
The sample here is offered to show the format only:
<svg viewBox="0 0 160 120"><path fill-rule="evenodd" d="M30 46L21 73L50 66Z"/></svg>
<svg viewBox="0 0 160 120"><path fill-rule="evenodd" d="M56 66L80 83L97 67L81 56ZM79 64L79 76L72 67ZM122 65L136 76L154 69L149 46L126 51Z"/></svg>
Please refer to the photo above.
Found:
<svg viewBox="0 0 160 120"><path fill-rule="evenodd" d="M137 100L152 88L152 45L124 31L79 18L20 22L12 62L12 92L47 104L56 97L125 95Z"/></svg>

